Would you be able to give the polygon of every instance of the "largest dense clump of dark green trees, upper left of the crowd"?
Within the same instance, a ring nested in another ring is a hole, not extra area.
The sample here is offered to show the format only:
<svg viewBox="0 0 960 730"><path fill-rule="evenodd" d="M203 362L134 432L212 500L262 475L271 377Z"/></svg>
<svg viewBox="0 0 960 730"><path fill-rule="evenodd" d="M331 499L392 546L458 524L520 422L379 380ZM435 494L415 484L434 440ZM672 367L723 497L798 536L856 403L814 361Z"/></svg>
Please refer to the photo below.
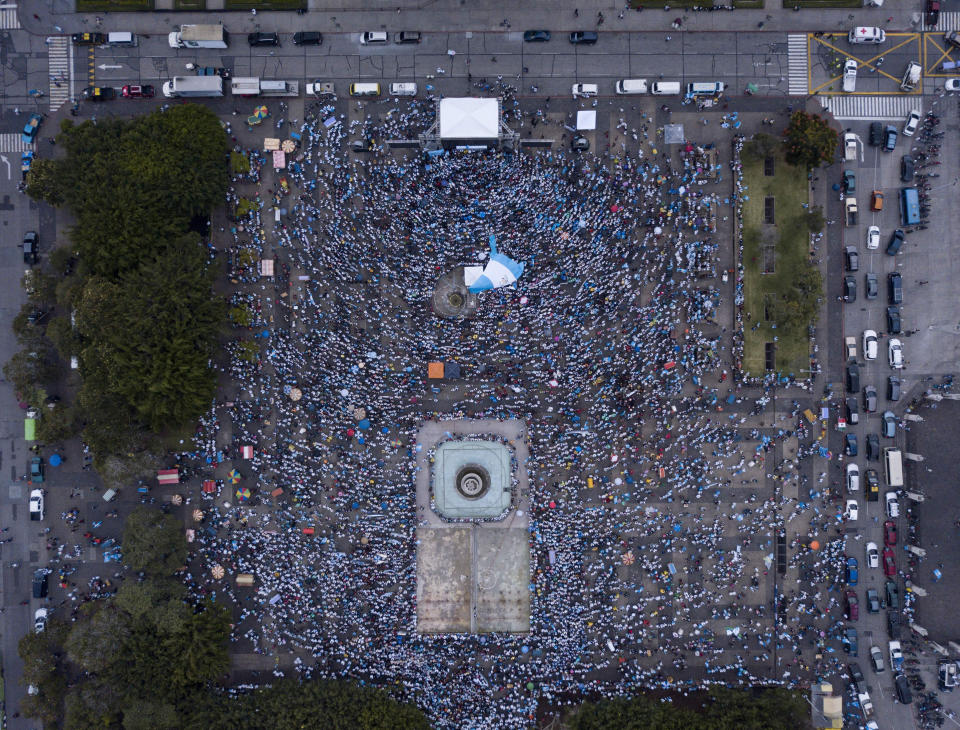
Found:
<svg viewBox="0 0 960 730"><path fill-rule="evenodd" d="M59 418L44 412L41 427L82 431L102 466L191 427L210 406L226 307L201 237L228 184L227 137L210 110L184 104L66 120L57 140L66 155L37 160L27 192L69 208L76 223L69 245L31 276L31 309L47 314L8 375L22 395L45 396L62 374L55 354L60 363L75 356L76 400Z"/></svg>

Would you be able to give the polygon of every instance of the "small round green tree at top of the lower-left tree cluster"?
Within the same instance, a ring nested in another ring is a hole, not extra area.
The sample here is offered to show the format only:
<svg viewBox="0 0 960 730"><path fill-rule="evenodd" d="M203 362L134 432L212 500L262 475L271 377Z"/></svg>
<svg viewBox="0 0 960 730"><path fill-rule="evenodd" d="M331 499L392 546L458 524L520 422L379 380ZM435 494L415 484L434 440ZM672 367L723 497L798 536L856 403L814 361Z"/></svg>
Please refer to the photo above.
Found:
<svg viewBox="0 0 960 730"><path fill-rule="evenodd" d="M135 571L169 576L187 559L183 525L158 509L137 507L123 530L123 562Z"/></svg>

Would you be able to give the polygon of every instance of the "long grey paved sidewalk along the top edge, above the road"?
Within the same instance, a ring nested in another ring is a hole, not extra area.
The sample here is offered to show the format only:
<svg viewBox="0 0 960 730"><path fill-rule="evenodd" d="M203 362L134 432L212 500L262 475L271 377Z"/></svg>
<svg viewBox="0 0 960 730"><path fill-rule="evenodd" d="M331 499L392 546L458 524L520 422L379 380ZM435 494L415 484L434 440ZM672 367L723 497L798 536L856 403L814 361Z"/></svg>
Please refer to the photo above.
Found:
<svg viewBox="0 0 960 730"><path fill-rule="evenodd" d="M222 11L216 8L222 0L207 0L206 12L172 11L172 0L157 0L158 12L81 14L74 12L71 0L53 0L49 5L23 7L20 22L30 33L48 35L61 32L75 33L90 30L125 30L142 34L166 32L169 26L181 23L209 23L223 21L233 33L253 30L293 33L297 30L319 30L326 33L350 33L364 30L421 30L424 32L473 31L520 33L524 30L546 27L555 34L552 43L563 42L563 33L572 30L598 30L602 33L625 31L672 31L672 23L680 18L679 32L774 32L804 33L817 30L836 30L854 25L876 25L887 31L913 31L919 25L911 23L918 12L915 5L892 4L883 8L810 8L793 11L781 7L781 0L766 0L767 7L749 10L716 10L694 12L689 8L648 8L643 11L625 10L622 5L593 0L590 3L570 3L558 10L549 0L530 0L522 8L505 10L500 3L490 0L471 3L469 8L454 0L395 0L389 4L354 2L354 0L311 0L305 15L292 11ZM51 10L52 8L52 10ZM579 15L574 15L574 9ZM604 22L597 25L597 14L602 12ZM620 13L623 17L620 17ZM33 13L39 16L34 18ZM96 23L96 18L102 24ZM889 22L888 19L890 19ZM601 40L602 42L602 40Z"/></svg>

